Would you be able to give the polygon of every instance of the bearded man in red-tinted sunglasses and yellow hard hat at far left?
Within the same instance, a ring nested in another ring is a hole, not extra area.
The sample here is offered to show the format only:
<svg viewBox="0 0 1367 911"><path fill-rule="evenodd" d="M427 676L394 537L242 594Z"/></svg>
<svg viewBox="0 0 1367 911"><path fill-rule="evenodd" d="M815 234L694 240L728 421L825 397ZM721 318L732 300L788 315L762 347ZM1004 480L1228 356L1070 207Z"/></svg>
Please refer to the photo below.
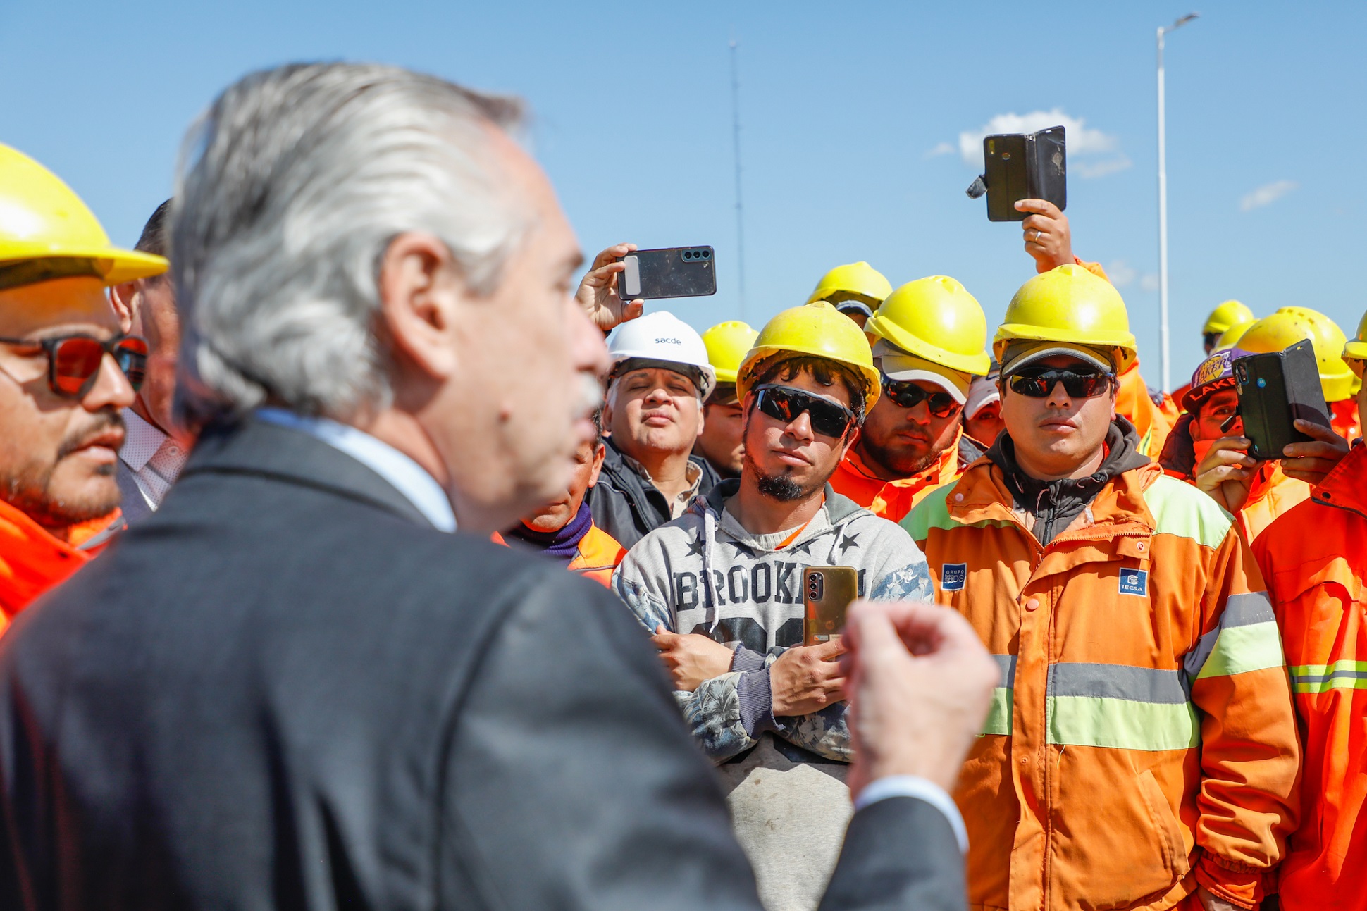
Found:
<svg viewBox="0 0 1367 911"><path fill-rule="evenodd" d="M0 145L0 629L123 528L119 409L148 347L104 289L165 268L111 246L55 174Z"/></svg>

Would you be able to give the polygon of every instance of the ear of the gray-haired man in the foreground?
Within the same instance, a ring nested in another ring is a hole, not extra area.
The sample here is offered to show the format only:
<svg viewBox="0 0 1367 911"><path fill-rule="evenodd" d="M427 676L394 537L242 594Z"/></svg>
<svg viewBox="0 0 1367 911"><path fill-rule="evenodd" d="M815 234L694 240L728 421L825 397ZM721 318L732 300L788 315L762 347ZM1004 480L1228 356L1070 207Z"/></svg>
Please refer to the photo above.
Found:
<svg viewBox="0 0 1367 911"><path fill-rule="evenodd" d="M401 234L380 257L380 323L395 353L433 379L457 369L457 306L465 294L451 252L431 234Z"/></svg>

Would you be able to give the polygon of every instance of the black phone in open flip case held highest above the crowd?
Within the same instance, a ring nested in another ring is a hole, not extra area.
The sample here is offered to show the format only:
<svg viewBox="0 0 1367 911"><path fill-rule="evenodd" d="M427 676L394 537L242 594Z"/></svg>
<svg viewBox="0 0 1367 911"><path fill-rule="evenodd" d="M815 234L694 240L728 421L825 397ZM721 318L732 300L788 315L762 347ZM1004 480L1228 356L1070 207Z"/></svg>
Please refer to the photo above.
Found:
<svg viewBox="0 0 1367 911"><path fill-rule="evenodd" d="M1003 133L983 138L983 183L990 222L1024 222L1021 200L1048 200L1068 208L1068 149L1064 127L1039 133Z"/></svg>

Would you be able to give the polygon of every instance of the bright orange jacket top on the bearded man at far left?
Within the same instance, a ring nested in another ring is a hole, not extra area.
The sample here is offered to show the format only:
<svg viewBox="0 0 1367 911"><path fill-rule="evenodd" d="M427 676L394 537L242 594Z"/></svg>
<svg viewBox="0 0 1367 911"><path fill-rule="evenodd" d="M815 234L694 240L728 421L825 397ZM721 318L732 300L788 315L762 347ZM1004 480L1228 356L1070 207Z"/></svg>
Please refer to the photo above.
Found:
<svg viewBox="0 0 1367 911"><path fill-rule="evenodd" d="M0 501L0 632L49 588L66 581L123 528L123 514L72 525L62 540L18 507Z"/></svg>

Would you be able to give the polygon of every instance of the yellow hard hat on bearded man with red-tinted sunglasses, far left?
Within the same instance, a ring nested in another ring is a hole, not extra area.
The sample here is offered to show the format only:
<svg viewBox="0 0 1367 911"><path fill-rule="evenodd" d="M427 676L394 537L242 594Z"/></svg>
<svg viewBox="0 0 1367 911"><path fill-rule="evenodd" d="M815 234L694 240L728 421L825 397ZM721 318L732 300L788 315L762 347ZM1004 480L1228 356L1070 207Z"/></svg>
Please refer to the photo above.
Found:
<svg viewBox="0 0 1367 911"><path fill-rule="evenodd" d="M160 256L112 246L56 174L0 145L0 287L75 275L118 285L160 275L168 265Z"/></svg>

